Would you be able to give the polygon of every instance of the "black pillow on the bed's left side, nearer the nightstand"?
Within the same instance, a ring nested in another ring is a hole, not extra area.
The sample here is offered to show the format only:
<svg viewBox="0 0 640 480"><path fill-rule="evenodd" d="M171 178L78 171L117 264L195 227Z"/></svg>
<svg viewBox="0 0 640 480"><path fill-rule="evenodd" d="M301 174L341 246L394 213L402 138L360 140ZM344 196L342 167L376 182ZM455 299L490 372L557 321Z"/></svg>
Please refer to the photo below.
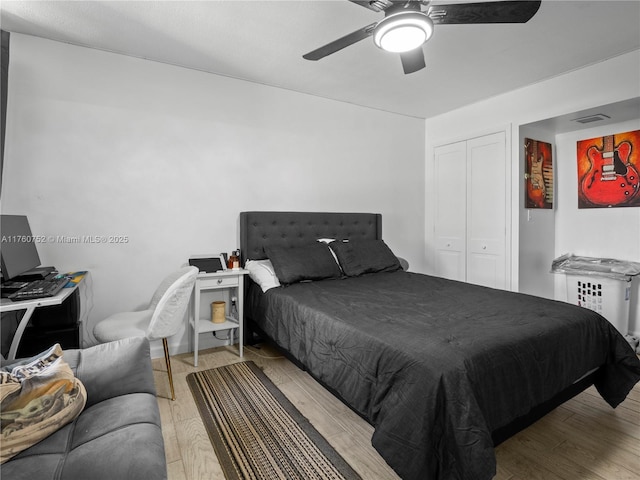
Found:
<svg viewBox="0 0 640 480"><path fill-rule="evenodd" d="M341 276L340 267L324 243L314 242L303 247L267 247L265 253L282 284Z"/></svg>

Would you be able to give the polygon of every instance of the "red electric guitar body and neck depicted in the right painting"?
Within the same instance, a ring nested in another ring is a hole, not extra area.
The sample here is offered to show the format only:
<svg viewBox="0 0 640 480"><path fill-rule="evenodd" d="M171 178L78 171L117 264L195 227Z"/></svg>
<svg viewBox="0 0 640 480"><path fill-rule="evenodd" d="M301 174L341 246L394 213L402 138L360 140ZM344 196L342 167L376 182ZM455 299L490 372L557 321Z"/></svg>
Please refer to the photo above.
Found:
<svg viewBox="0 0 640 480"><path fill-rule="evenodd" d="M629 162L632 146L627 140L613 144L613 135L603 137L602 150L587 150L590 167L580 187L593 205L614 206L631 201L638 194L638 171Z"/></svg>

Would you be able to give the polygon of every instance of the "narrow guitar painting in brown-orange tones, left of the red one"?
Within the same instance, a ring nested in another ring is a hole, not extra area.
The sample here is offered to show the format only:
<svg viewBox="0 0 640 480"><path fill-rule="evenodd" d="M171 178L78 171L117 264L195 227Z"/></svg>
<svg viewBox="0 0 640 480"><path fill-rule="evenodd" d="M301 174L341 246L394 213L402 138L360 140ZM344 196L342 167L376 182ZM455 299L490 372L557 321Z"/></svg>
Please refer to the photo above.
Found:
<svg viewBox="0 0 640 480"><path fill-rule="evenodd" d="M524 139L525 208L553 207L553 162L551 144Z"/></svg>

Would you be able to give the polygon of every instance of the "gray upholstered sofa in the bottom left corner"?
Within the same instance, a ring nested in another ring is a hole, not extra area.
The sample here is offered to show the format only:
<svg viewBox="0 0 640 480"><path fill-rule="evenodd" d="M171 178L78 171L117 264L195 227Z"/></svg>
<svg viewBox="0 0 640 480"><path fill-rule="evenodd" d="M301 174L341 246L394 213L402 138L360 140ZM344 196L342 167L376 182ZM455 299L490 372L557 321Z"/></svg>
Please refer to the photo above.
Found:
<svg viewBox="0 0 640 480"><path fill-rule="evenodd" d="M0 466L0 478L166 479L149 342L129 338L66 350L63 358L87 390L84 410Z"/></svg>

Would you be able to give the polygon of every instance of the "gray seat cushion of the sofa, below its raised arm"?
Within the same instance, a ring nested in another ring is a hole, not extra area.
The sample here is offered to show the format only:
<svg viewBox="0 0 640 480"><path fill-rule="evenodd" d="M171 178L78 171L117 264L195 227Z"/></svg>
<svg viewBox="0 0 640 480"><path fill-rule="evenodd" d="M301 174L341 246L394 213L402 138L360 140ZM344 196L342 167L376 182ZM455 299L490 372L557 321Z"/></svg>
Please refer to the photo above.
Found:
<svg viewBox="0 0 640 480"><path fill-rule="evenodd" d="M129 394L88 407L6 463L5 474L16 480L166 478L157 399Z"/></svg>

